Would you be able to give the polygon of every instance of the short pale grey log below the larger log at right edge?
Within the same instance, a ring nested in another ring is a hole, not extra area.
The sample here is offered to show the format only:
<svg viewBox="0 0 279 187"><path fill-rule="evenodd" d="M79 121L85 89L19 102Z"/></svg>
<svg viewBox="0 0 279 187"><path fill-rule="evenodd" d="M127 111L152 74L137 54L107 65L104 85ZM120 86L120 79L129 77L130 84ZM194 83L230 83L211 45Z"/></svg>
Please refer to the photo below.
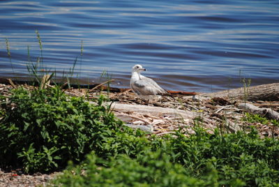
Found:
<svg viewBox="0 0 279 187"><path fill-rule="evenodd" d="M279 113L274 110L271 110L270 108L260 108L250 103L240 103L238 107L246 110L247 112L259 114L262 117L279 120Z"/></svg>

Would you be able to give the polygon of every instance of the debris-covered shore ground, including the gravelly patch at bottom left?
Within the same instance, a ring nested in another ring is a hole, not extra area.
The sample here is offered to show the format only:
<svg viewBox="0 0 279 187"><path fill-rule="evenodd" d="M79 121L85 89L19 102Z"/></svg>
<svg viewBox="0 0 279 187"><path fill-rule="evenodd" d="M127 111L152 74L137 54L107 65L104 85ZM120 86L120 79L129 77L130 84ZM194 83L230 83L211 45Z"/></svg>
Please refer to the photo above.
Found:
<svg viewBox="0 0 279 187"><path fill-rule="evenodd" d="M31 86L22 85L27 89L33 89ZM0 94L10 95L11 85L0 84ZM129 105L145 105L146 112L137 112L137 110L114 111L116 117L123 120L127 126L132 128L141 128L149 133L157 135L165 135L173 133L174 130L183 128L187 133L195 133L193 127L199 123L209 133L213 133L214 128L222 128L229 133L234 133L236 130L249 130L250 126L255 126L261 137L278 137L279 128L273 124L249 123L243 120L245 111L239 108L239 103L243 100L232 100L229 98L204 98L199 96L185 96L173 94L172 96L161 96L157 100L147 102L135 96L132 91L125 90L120 92L100 91L95 89L88 92L88 89L65 89L65 93L70 96L87 96L96 98L100 93L109 96L114 103L129 104ZM255 100L246 101L257 107L271 108L273 111L279 112L279 100L266 101ZM167 108L170 111L185 111L187 114L195 114L189 118L181 117L176 112L168 112L167 114L154 114L148 110L150 107L158 107L158 110ZM199 121L199 122L197 122ZM0 186L38 186L47 184L47 181L53 179L56 174L23 174L22 170L0 168Z"/></svg>

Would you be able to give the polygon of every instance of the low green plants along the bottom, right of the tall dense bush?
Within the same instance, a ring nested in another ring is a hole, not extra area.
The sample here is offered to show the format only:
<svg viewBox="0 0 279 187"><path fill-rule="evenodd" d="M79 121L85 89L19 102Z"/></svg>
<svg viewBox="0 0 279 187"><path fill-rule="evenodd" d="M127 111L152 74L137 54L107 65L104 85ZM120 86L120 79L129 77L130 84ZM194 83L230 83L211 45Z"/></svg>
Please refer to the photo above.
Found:
<svg viewBox="0 0 279 187"><path fill-rule="evenodd" d="M74 167L70 164L53 184L279 186L279 142L271 138L262 140L255 130L250 134L224 135L216 130L211 135L196 128L196 134L190 136L183 132L149 138L126 134L117 136L115 141L120 145L123 143L123 147L114 149L113 157L91 153L83 165Z"/></svg>

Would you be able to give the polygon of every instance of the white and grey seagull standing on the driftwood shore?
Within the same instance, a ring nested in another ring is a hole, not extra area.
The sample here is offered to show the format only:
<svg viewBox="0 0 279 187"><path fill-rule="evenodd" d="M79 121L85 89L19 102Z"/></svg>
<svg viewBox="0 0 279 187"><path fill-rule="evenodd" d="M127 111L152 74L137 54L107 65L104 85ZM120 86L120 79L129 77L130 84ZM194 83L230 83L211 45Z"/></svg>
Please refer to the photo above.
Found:
<svg viewBox="0 0 279 187"><path fill-rule="evenodd" d="M140 72L145 71L140 64L136 64L132 68L132 76L130 78L130 89L136 93L140 98L149 100L153 99L156 95L164 95L167 93L165 89L162 89L155 81L149 77L140 75Z"/></svg>

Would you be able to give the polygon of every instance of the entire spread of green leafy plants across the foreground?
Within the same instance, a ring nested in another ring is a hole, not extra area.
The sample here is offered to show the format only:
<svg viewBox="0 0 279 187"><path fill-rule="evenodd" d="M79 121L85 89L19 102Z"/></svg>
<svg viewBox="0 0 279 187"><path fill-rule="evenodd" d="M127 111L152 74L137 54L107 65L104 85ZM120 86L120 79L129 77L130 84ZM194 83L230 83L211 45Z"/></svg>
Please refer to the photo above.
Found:
<svg viewBox="0 0 279 187"><path fill-rule="evenodd" d="M122 126L103 96L90 105L55 88L0 98L1 165L47 172L73 160L57 186L279 186L279 141L253 128L147 137Z"/></svg>

